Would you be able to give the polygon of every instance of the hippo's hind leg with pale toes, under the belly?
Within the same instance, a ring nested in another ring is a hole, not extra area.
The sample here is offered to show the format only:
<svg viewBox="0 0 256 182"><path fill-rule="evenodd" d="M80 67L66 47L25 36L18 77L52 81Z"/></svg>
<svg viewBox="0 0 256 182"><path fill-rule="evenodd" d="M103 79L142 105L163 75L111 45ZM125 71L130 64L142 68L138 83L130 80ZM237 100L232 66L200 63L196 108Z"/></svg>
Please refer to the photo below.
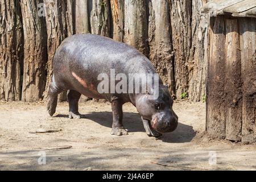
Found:
<svg viewBox="0 0 256 182"><path fill-rule="evenodd" d="M81 118L78 109L79 98L81 97L81 93L76 90L68 91L68 105L69 105L69 118Z"/></svg>

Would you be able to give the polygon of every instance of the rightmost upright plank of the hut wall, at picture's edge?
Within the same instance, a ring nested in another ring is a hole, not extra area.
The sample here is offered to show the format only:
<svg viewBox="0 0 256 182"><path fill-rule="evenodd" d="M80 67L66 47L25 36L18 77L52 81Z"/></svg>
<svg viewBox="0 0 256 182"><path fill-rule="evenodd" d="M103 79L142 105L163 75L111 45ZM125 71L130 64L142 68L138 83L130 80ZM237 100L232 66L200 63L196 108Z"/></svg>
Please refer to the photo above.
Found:
<svg viewBox="0 0 256 182"><path fill-rule="evenodd" d="M240 18L241 77L243 81L242 142L256 141L256 19Z"/></svg>

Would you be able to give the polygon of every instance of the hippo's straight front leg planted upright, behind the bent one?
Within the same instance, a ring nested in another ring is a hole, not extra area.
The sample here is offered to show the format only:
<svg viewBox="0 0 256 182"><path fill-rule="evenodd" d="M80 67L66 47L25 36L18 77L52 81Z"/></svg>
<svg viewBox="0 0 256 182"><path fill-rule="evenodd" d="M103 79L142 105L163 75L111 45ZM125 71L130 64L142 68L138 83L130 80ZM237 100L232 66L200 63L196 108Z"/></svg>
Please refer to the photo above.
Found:
<svg viewBox="0 0 256 182"><path fill-rule="evenodd" d="M112 124L112 135L127 135L128 130L123 127L123 102L118 98L114 98L111 101L112 113L113 113L113 124Z"/></svg>

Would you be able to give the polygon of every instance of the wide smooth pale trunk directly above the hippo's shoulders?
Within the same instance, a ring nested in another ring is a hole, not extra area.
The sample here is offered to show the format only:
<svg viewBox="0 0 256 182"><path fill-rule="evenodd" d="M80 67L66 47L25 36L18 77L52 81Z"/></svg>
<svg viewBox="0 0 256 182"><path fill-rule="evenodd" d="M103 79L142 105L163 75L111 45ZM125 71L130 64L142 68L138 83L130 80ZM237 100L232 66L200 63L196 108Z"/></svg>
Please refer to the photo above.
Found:
<svg viewBox="0 0 256 182"><path fill-rule="evenodd" d="M148 56L147 15L145 0L125 1L125 43Z"/></svg>

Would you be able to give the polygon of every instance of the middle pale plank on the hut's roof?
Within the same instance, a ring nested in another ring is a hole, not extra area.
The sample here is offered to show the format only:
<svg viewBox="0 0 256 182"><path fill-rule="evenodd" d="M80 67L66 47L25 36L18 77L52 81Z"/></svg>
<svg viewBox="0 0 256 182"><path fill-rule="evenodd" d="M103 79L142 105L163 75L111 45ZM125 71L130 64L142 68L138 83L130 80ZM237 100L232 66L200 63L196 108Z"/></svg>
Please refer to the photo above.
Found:
<svg viewBox="0 0 256 182"><path fill-rule="evenodd" d="M256 1L246 0L246 1L238 2L232 6L226 7L223 11L225 13L241 13L243 11L252 9L253 7L256 7Z"/></svg>

